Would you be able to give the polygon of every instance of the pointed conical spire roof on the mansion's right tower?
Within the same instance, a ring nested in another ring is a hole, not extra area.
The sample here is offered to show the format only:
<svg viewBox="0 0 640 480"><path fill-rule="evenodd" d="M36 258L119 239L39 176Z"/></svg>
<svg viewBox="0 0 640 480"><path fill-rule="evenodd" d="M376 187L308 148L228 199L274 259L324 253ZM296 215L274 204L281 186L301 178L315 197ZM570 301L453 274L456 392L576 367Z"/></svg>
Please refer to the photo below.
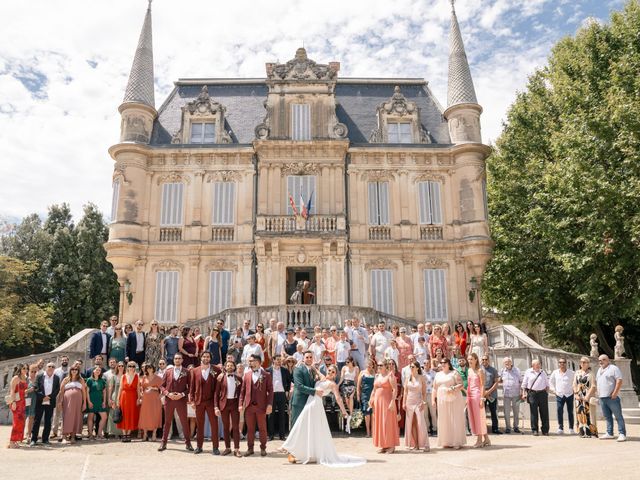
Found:
<svg viewBox="0 0 640 480"><path fill-rule="evenodd" d="M447 92L447 107L461 103L478 103L476 91L473 88L471 70L467 54L464 51L462 34L458 25L458 17L454 7L455 0L451 0L451 30L449 32L449 88Z"/></svg>

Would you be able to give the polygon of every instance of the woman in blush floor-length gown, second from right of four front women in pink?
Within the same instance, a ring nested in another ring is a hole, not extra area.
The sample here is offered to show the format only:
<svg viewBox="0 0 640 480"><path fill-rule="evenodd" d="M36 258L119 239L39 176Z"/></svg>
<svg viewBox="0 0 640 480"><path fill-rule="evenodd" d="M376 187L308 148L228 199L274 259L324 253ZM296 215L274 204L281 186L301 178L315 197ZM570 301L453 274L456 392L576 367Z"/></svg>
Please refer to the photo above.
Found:
<svg viewBox="0 0 640 480"><path fill-rule="evenodd" d="M436 374L432 403L438 408L438 446L458 450L467 443L465 435L465 401L462 378L451 367L451 360L440 361L442 370Z"/></svg>

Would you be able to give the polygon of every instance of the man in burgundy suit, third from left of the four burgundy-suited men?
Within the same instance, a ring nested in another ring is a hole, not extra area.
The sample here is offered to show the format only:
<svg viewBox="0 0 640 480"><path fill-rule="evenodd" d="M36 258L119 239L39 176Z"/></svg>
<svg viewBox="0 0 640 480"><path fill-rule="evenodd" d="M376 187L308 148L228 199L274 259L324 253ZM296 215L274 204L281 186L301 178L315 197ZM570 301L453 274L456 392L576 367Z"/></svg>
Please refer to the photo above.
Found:
<svg viewBox="0 0 640 480"><path fill-rule="evenodd" d="M233 431L233 455L240 455L240 412L238 398L242 387L242 378L236 375L236 363L227 360L225 372L218 375L214 405L216 416L222 417L225 449L222 455L231 453L231 432Z"/></svg>

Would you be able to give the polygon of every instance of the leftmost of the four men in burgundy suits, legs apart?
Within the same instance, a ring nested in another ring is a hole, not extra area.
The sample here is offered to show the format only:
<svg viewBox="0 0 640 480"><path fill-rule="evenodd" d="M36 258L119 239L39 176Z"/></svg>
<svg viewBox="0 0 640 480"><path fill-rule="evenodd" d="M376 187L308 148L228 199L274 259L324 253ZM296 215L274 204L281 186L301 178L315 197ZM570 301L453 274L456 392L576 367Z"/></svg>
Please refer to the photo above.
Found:
<svg viewBox="0 0 640 480"><path fill-rule="evenodd" d="M164 380L160 391L166 397L164 403L164 428L162 430L162 443L159 452L167 449L167 439L171 430L173 412L178 413L178 419L184 432L184 443L187 450L193 452L191 439L189 438L189 420L187 419L187 396L189 395L189 372L182 368L182 354L173 356L173 368L168 368L164 374Z"/></svg>

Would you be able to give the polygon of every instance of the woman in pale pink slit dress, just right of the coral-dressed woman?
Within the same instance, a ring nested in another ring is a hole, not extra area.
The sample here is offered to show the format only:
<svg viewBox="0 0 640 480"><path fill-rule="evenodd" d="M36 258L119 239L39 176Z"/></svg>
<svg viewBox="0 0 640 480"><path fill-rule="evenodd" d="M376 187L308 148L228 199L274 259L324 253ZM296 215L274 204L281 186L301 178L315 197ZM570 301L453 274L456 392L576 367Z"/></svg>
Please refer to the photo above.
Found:
<svg viewBox="0 0 640 480"><path fill-rule="evenodd" d="M411 450L429 451L424 407L427 403L427 382L418 362L411 364L411 376L404 386L402 406L407 412L404 426L404 446Z"/></svg>

